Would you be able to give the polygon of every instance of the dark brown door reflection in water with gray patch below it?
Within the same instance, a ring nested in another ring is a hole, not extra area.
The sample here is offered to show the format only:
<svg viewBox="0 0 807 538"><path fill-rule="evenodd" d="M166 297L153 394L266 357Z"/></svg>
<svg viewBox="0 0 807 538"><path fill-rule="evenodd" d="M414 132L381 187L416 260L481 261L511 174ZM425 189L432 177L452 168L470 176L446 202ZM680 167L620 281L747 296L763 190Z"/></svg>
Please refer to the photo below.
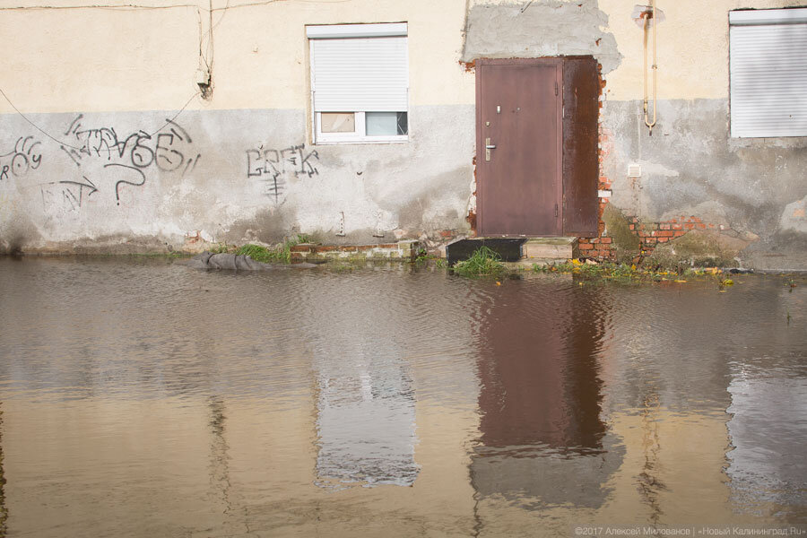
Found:
<svg viewBox="0 0 807 538"><path fill-rule="evenodd" d="M503 287L480 309L481 438L471 476L482 495L599 507L620 465L624 448L600 418L607 305L565 286L546 285L545 301Z"/></svg>

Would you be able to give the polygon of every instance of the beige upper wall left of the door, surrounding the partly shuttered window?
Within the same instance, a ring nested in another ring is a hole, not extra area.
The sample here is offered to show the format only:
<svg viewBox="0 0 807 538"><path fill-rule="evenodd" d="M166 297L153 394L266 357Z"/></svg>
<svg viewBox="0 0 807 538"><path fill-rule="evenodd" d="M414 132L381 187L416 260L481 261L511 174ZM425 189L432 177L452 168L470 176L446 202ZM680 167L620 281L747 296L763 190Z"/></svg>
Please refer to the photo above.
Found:
<svg viewBox="0 0 807 538"><path fill-rule="evenodd" d="M78 2L86 7L47 10L37 4L0 9L0 80L23 112L182 108L205 65L213 67L213 100L196 97L188 108L306 109L305 25L351 22L409 22L412 106L474 100L473 74L458 63L461 0L218 2L213 12L206 2L117 9ZM4 112L13 108L3 100Z"/></svg>

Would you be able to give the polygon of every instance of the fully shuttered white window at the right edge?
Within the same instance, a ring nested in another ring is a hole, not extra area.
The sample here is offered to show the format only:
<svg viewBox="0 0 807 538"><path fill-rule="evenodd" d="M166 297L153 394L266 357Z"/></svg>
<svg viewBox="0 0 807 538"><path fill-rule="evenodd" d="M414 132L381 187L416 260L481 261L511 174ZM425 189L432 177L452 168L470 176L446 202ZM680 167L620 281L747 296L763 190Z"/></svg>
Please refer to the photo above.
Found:
<svg viewBox="0 0 807 538"><path fill-rule="evenodd" d="M807 8L729 13L732 136L807 136Z"/></svg>

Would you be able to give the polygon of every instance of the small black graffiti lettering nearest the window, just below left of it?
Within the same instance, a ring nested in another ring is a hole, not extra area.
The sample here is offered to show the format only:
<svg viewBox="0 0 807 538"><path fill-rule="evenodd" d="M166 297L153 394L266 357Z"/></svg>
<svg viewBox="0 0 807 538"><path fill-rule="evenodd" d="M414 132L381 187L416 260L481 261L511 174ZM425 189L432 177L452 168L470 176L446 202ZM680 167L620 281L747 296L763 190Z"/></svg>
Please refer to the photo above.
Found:
<svg viewBox="0 0 807 538"><path fill-rule="evenodd" d="M275 204L285 200L285 190L291 178L319 175L317 150L306 150L306 144L292 145L282 150L247 150L247 178L256 178L263 184L263 192L273 198Z"/></svg>

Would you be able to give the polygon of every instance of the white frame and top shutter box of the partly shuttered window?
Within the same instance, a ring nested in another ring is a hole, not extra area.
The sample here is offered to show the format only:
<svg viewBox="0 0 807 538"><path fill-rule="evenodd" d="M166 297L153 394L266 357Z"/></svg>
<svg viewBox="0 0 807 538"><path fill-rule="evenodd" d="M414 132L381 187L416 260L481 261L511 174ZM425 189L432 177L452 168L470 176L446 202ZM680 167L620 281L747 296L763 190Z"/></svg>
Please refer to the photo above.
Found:
<svg viewBox="0 0 807 538"><path fill-rule="evenodd" d="M412 134L412 117L410 115L409 106L409 54L408 54L408 37L409 25L407 22L380 22L368 24L314 24L306 26L306 37L308 39L308 57L309 57L309 83L310 83L310 103L311 103L311 125L313 143L317 145L326 144L346 144L346 143L407 143ZM381 112L382 110L317 110L315 101L315 62L314 62L314 47L317 40L325 39L373 39L373 38L406 38L407 54L406 54L406 109L405 110L383 110L383 112L396 112L406 114L406 134L380 134L368 135L367 134L367 117L368 112ZM354 114L353 124L355 131L349 133L323 133L322 132L322 113L343 113Z"/></svg>

